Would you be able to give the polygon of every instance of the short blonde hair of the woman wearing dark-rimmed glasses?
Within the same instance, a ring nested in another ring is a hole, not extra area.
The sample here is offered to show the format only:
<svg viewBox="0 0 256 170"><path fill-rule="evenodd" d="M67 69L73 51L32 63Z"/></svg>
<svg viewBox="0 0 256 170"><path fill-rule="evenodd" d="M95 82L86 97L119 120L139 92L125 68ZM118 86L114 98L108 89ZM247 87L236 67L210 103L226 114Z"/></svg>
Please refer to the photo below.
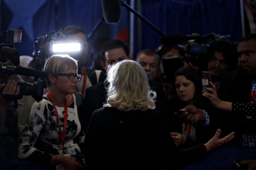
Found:
<svg viewBox="0 0 256 170"><path fill-rule="evenodd" d="M44 64L44 71L48 74L58 76L59 73L64 73L67 70L76 69L78 70L77 61L67 54L57 54L51 56ZM50 86L49 78L45 79L47 86Z"/></svg>

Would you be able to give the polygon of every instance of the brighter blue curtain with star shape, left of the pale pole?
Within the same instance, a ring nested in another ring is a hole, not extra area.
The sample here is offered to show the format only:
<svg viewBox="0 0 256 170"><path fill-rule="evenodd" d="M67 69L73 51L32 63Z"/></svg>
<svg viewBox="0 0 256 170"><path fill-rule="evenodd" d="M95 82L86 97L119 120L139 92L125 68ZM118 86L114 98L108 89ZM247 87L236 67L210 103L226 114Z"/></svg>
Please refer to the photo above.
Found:
<svg viewBox="0 0 256 170"><path fill-rule="evenodd" d="M122 7L123 8L123 7ZM20 55L34 51L34 40L62 27L77 25L89 34L102 18L101 0L2 0L1 31L21 29L22 43L14 44ZM119 31L128 28L128 11L122 9L118 24L102 22L89 40L97 36L115 38ZM4 40L2 40L3 42Z"/></svg>

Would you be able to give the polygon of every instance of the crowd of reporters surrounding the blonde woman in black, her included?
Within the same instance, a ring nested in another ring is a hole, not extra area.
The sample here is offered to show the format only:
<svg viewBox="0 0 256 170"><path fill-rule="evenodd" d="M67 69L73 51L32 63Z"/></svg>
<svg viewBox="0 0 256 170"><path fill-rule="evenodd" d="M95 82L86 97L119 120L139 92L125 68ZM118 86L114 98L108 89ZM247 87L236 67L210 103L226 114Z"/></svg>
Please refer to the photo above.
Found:
<svg viewBox="0 0 256 170"><path fill-rule="evenodd" d="M48 56L41 101L23 96L16 109L17 82L25 77L0 73L1 162L65 170L192 170L195 164L234 169L237 161L256 170L255 34L238 46L211 42L202 68L176 43L133 57L127 43L99 38L95 67L88 68L85 31L69 26L62 33L79 41L82 52ZM1 63L19 67L19 60L17 50L1 49ZM204 68L212 78L208 92L202 92Z"/></svg>

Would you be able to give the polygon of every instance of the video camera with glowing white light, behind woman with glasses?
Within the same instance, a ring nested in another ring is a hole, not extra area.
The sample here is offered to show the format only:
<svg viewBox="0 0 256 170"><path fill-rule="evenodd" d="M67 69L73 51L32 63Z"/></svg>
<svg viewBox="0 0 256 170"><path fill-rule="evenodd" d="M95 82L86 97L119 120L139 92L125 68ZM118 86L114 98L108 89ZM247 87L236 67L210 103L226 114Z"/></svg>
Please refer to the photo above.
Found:
<svg viewBox="0 0 256 170"><path fill-rule="evenodd" d="M45 61L54 54L69 54L76 58L75 56L80 55L83 51L80 42L67 41L67 37L63 35L62 30L37 36L34 43L35 51L33 52L35 69L41 70Z"/></svg>

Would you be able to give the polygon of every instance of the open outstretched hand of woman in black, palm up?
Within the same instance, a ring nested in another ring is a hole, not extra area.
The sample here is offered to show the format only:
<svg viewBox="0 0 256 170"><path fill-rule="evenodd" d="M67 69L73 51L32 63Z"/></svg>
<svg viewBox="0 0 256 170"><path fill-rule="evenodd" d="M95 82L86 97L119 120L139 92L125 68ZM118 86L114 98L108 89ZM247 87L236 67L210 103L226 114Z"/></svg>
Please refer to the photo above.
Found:
<svg viewBox="0 0 256 170"><path fill-rule="evenodd" d="M211 138L206 144L204 144L206 146L207 152L211 151L212 149L229 142L230 140L232 140L235 136L234 136L234 132L231 132L229 135L226 135L224 138L219 139L220 137L220 133L221 130L218 129L217 132L215 133L214 137Z"/></svg>

